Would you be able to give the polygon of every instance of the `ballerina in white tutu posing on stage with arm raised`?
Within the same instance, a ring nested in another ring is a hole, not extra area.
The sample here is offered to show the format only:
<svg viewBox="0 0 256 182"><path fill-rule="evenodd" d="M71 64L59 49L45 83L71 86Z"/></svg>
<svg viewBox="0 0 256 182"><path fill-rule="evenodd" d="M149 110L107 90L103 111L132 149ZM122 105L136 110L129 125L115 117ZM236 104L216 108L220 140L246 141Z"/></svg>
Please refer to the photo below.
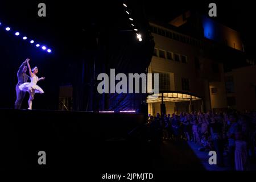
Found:
<svg viewBox="0 0 256 182"><path fill-rule="evenodd" d="M32 100L34 100L35 93L44 93L43 89L40 86L36 85L39 80L44 80L44 77L38 78L36 74L38 73L38 67L35 67L31 70L30 64L28 63L30 59L27 59L28 70L30 71L30 82L19 85L19 89L28 92L30 98L28 99L28 109L32 109Z"/></svg>

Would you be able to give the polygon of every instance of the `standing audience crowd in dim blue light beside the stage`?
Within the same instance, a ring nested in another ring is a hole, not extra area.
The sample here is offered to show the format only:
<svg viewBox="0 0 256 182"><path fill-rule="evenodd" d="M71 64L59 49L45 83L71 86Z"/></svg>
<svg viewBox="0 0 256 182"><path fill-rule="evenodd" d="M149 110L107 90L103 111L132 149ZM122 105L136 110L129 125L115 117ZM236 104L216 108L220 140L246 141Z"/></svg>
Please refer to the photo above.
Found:
<svg viewBox="0 0 256 182"><path fill-rule="evenodd" d="M255 154L256 112L192 112L150 116L151 135L158 141L185 140L199 144L200 151L214 150L218 166L232 170L249 170L249 159ZM157 123L157 124L156 124ZM155 127L157 129L155 129ZM160 131L161 130L161 131ZM224 156L227 157L224 164Z"/></svg>

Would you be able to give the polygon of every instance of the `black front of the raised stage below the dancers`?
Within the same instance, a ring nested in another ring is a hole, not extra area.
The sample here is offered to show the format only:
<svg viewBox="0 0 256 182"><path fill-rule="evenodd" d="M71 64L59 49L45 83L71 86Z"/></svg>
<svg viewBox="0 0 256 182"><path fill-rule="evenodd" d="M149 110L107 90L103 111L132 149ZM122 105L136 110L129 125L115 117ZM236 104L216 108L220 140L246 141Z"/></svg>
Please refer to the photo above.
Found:
<svg viewBox="0 0 256 182"><path fill-rule="evenodd" d="M129 140L146 121L142 114L82 111L0 109L0 114L0 169L100 169L121 161L126 166L123 156L138 152ZM39 151L46 152L45 166L38 164Z"/></svg>

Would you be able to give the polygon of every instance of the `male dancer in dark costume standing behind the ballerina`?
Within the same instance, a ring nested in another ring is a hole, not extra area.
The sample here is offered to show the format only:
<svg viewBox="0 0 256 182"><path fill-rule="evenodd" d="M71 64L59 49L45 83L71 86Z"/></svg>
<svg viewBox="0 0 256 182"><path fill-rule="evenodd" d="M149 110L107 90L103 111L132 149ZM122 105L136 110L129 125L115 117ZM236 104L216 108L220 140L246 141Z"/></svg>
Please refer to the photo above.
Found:
<svg viewBox="0 0 256 182"><path fill-rule="evenodd" d="M17 73L17 77L18 77L18 84L16 85L16 101L15 101L15 106L14 109L20 109L21 105L22 105L22 101L23 98L25 97L25 93L22 90L19 89L19 85L23 84L24 82L27 82L28 78L30 78L26 72L27 72L27 61L29 59L26 59L26 61L24 61L22 63L22 65L19 67L19 71Z"/></svg>

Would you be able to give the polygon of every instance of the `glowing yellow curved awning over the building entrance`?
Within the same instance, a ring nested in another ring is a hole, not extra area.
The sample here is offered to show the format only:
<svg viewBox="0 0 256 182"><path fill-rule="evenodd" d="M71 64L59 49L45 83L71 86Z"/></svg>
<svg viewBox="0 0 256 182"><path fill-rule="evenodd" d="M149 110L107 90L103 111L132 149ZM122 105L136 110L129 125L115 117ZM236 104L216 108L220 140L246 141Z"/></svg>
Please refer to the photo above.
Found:
<svg viewBox="0 0 256 182"><path fill-rule="evenodd" d="M183 92L163 92L158 94L151 94L147 96L147 103L162 102L184 102L184 101L199 101L201 98L194 96L191 93Z"/></svg>

